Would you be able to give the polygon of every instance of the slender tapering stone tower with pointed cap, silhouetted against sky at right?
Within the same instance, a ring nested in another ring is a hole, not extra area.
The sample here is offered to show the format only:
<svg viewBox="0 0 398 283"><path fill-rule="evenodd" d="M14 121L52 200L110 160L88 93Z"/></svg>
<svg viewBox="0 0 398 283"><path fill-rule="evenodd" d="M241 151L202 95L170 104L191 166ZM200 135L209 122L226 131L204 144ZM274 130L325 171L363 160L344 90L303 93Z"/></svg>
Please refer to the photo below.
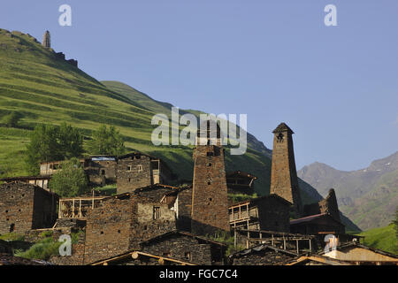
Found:
<svg viewBox="0 0 398 283"><path fill-rule="evenodd" d="M276 194L290 203L296 212L296 216L302 215L302 199L295 170L295 153L293 150L293 131L281 123L272 132L272 171L271 194Z"/></svg>

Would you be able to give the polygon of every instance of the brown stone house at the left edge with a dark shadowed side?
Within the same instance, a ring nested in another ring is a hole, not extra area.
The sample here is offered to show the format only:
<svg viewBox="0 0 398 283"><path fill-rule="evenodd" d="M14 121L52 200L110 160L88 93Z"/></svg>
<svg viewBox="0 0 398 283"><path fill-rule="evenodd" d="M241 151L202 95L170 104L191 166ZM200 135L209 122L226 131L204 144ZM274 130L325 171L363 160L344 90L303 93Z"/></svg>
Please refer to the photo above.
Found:
<svg viewBox="0 0 398 283"><path fill-rule="evenodd" d="M0 185L0 234L50 228L57 219L58 196L26 183Z"/></svg>

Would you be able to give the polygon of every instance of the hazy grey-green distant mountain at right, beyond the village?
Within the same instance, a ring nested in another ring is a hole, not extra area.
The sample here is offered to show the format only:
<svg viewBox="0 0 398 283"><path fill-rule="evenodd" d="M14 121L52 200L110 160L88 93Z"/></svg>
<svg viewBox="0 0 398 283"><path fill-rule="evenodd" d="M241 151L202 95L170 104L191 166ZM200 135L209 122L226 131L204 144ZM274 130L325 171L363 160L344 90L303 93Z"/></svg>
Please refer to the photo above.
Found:
<svg viewBox="0 0 398 283"><path fill-rule="evenodd" d="M398 151L361 170L345 172L316 162L297 174L320 195L327 195L333 187L340 210L362 230L387 226L394 217L398 205Z"/></svg>

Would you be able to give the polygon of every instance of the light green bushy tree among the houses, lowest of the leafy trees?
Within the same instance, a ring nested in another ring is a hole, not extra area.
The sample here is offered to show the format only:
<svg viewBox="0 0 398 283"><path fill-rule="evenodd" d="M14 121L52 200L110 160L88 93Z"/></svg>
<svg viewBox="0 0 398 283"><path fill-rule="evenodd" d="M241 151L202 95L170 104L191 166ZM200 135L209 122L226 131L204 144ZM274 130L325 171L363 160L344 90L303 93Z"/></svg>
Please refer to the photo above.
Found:
<svg viewBox="0 0 398 283"><path fill-rule="evenodd" d="M86 173L77 158L72 158L61 164L50 180L49 187L61 197L73 197L88 193Z"/></svg>

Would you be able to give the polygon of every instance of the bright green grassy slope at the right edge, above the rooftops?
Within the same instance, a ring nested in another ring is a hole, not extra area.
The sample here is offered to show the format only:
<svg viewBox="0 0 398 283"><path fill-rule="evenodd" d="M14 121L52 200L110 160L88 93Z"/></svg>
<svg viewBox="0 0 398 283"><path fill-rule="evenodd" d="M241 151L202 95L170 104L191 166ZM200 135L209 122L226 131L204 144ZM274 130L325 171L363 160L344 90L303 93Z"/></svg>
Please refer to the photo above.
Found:
<svg viewBox="0 0 398 283"><path fill-rule="evenodd" d="M395 236L394 225L374 228L358 235L365 237L366 246L398 255L398 239Z"/></svg>

